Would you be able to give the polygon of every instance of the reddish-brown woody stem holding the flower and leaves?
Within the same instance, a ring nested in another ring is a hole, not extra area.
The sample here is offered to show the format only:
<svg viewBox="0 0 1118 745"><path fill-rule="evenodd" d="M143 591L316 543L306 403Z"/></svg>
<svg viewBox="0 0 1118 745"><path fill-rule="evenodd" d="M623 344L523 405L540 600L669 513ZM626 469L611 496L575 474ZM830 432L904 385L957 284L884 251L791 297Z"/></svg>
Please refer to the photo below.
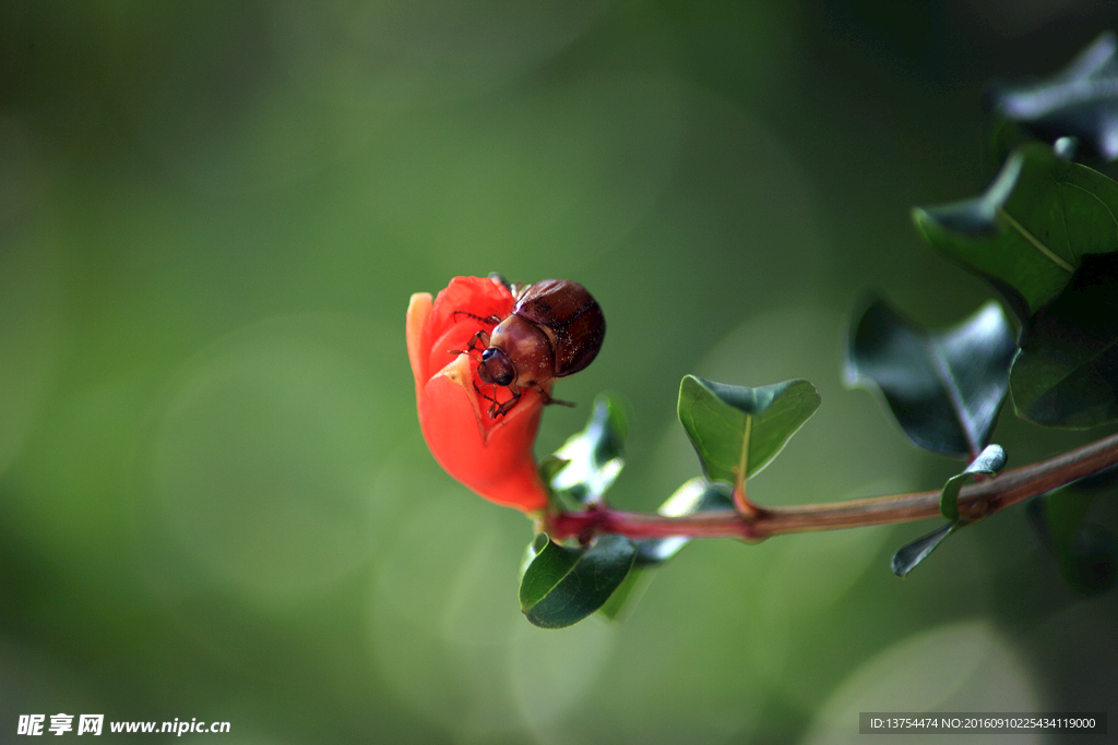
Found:
<svg viewBox="0 0 1118 745"><path fill-rule="evenodd" d="M968 522L982 519L1018 502L1035 497L1118 464L1118 434L1098 440L1049 460L1006 471L996 478L963 487L959 515ZM798 507L762 507L755 515L733 510L683 517L628 513L597 507L580 513L557 513L546 517L548 534L561 541L588 541L600 533L629 538L732 537L762 541L784 533L837 531L868 525L887 525L929 519L939 515L939 491L898 494Z"/></svg>

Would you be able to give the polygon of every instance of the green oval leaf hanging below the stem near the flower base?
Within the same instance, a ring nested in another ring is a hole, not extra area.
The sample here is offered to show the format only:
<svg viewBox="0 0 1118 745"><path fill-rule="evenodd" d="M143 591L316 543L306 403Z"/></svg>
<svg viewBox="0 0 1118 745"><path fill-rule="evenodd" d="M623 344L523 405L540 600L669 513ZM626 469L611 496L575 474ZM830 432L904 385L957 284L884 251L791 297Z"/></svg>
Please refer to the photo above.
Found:
<svg viewBox="0 0 1118 745"><path fill-rule="evenodd" d="M636 546L620 535L601 535L569 548L539 534L520 581L520 608L543 629L578 623L601 608L633 569Z"/></svg>

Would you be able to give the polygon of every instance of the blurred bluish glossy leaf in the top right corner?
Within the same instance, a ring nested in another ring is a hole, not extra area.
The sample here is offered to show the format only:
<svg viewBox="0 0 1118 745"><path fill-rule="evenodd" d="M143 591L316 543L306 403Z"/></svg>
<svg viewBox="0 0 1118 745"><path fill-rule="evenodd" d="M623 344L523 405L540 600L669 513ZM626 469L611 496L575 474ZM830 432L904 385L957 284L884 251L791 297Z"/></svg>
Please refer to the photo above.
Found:
<svg viewBox="0 0 1118 745"><path fill-rule="evenodd" d="M1118 42L1102 34L1063 71L1042 80L996 83L989 107L1042 140L1074 136L1096 154L1118 157Z"/></svg>

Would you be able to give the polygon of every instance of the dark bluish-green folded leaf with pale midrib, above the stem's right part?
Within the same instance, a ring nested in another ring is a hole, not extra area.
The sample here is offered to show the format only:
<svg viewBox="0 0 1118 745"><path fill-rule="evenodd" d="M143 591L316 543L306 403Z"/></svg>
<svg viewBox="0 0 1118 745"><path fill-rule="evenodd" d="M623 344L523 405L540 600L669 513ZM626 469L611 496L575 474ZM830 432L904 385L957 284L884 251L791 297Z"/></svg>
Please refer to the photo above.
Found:
<svg viewBox="0 0 1118 745"><path fill-rule="evenodd" d="M851 333L846 380L873 383L920 447L974 458L989 442L1016 350L997 303L932 333L873 299Z"/></svg>

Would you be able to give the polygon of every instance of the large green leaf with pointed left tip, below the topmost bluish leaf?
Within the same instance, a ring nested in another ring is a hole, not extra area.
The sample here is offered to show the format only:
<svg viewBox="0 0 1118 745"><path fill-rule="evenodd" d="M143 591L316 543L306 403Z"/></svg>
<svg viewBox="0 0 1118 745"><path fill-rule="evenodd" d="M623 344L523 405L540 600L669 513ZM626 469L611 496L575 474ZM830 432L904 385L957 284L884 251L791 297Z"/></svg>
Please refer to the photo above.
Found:
<svg viewBox="0 0 1118 745"><path fill-rule="evenodd" d="M1026 322L1087 254L1118 250L1118 183L1034 143L1013 153L986 192L917 208L918 232L986 278Z"/></svg>

